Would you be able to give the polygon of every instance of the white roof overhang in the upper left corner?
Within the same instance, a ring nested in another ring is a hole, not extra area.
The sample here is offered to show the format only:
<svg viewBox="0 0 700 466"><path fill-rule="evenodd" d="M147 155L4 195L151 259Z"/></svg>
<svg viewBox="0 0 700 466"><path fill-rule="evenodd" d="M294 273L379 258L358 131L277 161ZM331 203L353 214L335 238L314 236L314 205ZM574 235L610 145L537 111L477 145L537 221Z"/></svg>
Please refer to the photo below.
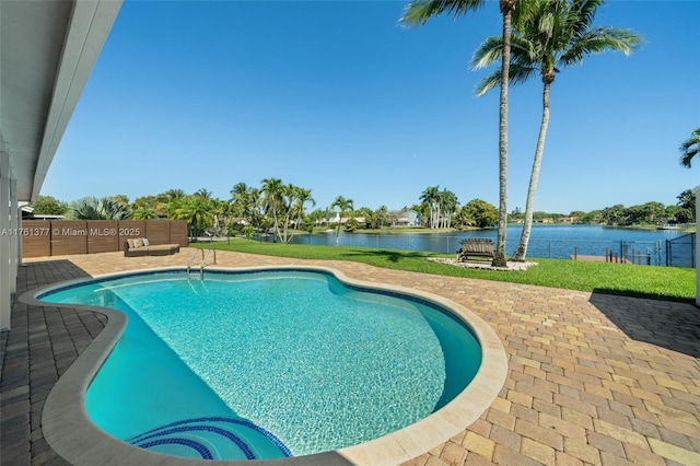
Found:
<svg viewBox="0 0 700 466"><path fill-rule="evenodd" d="M121 0L0 2L0 150L33 202Z"/></svg>

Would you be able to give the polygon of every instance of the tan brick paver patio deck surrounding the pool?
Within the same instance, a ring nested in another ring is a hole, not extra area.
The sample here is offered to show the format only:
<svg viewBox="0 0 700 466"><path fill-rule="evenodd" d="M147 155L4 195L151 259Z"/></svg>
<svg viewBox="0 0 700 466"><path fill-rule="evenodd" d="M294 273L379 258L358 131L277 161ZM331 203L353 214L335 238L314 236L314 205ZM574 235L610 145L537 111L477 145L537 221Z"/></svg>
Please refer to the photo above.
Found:
<svg viewBox="0 0 700 466"><path fill-rule="evenodd" d="M185 266L190 252L31 259L20 267L18 294L71 278ZM700 310L693 305L355 263L217 256L220 266L323 265L412 287L470 308L495 330L509 357L499 397L464 432L407 464L700 464ZM12 329L0 336L3 465L66 464L42 434L42 407L105 322L100 313L13 303Z"/></svg>

